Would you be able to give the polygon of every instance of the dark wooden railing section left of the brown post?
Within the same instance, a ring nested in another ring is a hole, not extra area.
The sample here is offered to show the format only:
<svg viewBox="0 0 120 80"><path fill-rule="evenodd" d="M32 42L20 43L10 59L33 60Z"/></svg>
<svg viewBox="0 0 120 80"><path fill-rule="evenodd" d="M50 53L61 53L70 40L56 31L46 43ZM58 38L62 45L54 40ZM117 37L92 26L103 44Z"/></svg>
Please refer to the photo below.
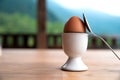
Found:
<svg viewBox="0 0 120 80"><path fill-rule="evenodd" d="M0 34L3 48L36 48L34 34Z"/></svg>

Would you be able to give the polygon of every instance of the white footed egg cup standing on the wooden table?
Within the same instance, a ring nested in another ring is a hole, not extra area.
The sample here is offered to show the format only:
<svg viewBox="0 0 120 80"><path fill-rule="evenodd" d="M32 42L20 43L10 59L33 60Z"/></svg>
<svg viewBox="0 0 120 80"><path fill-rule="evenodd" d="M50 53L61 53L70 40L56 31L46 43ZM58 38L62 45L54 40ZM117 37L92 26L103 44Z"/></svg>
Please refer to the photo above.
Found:
<svg viewBox="0 0 120 80"><path fill-rule="evenodd" d="M67 71L85 71L88 67L84 64L81 57L86 52L88 46L87 33L63 33L62 47L68 56L68 60L61 67Z"/></svg>

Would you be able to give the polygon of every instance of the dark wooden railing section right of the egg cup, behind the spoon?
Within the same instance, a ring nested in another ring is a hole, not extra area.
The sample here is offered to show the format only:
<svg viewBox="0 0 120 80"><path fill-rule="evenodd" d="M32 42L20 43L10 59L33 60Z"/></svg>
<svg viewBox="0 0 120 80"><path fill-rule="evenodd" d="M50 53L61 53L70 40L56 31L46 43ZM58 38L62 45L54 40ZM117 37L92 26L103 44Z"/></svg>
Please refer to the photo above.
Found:
<svg viewBox="0 0 120 80"><path fill-rule="evenodd" d="M101 36L105 41L107 41L107 43L114 49L119 48L119 44L118 42L118 38L117 37L108 37L108 36ZM97 37L93 37L93 36L89 36L89 41L88 41L88 48L92 48L92 49L108 49L108 47L106 46L106 44L101 41L99 38Z"/></svg>

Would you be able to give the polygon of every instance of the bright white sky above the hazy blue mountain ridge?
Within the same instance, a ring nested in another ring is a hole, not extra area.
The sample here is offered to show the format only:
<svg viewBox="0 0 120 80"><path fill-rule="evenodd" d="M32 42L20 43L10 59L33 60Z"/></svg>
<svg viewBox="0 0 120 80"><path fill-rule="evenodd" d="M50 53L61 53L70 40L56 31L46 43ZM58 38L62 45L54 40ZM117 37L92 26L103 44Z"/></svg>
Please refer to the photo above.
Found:
<svg viewBox="0 0 120 80"><path fill-rule="evenodd" d="M120 16L120 0L53 0L67 9L93 9Z"/></svg>

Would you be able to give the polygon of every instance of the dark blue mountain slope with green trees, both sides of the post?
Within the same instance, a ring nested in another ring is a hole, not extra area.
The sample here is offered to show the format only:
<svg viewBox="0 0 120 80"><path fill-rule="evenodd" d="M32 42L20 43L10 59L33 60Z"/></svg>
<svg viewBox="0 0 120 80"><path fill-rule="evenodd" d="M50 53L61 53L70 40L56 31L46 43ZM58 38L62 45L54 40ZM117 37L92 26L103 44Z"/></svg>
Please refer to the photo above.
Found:
<svg viewBox="0 0 120 80"><path fill-rule="evenodd" d="M37 0L0 0L0 33L37 33ZM47 34L63 32L63 22L53 11L47 9Z"/></svg>

